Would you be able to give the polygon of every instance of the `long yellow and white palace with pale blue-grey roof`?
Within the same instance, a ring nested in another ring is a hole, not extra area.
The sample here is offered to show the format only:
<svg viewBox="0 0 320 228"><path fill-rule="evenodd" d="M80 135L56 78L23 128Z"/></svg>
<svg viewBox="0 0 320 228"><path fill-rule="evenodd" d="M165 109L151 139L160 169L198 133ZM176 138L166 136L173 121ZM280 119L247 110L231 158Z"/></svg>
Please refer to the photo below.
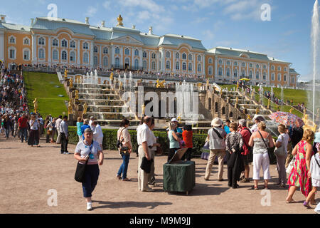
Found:
<svg viewBox="0 0 320 228"><path fill-rule="evenodd" d="M39 17L30 26L6 23L0 15L0 60L11 64L43 64L84 68L128 68L153 73L174 73L215 78L232 83L250 78L252 84L296 86L299 74L292 63L266 54L235 48L206 49L189 36L157 36L117 26L91 26L70 19Z"/></svg>

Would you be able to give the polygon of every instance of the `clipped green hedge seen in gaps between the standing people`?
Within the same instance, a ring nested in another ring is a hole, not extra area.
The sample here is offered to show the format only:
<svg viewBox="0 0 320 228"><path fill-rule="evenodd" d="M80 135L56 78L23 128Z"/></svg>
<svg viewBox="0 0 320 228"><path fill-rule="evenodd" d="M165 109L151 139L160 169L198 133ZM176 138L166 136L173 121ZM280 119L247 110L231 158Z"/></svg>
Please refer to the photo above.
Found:
<svg viewBox="0 0 320 228"><path fill-rule="evenodd" d="M77 144L79 141L79 137L77 134L77 127L70 126L69 127L69 143ZM103 141L102 147L104 150L117 150L117 129L102 129L103 133ZM154 131L154 135L158 138L158 142L162 145L162 150L164 150L164 154L168 154L169 152L169 141L166 132ZM129 134L131 136L132 149L134 152L138 150L137 145L137 131L129 130ZM206 134L193 134L193 157L200 157L202 152L202 147L206 142L207 135ZM274 155L274 147L269 149L269 157L270 163L276 164L277 158ZM252 160L252 154L250 155Z"/></svg>

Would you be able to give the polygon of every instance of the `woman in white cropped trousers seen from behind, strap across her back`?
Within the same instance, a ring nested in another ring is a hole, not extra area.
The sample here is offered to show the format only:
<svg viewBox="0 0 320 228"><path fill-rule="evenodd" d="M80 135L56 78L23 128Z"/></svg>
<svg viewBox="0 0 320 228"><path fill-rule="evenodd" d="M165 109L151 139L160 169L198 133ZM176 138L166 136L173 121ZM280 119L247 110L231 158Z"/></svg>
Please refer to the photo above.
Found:
<svg viewBox="0 0 320 228"><path fill-rule="evenodd" d="M255 182L254 190L258 190L257 183L260 180L260 170L262 168L263 178L265 180L265 189L268 188L268 181L270 180L270 160L268 155L268 148L273 147L272 136L265 131L265 122L257 124L258 130L252 133L249 140L250 147L253 146L253 177Z"/></svg>

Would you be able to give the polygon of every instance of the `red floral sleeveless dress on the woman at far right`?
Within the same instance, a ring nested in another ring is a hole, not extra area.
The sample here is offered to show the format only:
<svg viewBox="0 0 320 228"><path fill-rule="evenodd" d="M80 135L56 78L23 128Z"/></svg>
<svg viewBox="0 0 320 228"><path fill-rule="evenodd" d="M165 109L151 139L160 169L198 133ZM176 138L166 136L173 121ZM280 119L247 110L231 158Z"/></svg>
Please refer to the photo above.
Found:
<svg viewBox="0 0 320 228"><path fill-rule="evenodd" d="M306 166L306 143L306 141L298 143L296 161L288 178L288 185L300 187L305 197L311 192L311 179L308 177L309 170Z"/></svg>

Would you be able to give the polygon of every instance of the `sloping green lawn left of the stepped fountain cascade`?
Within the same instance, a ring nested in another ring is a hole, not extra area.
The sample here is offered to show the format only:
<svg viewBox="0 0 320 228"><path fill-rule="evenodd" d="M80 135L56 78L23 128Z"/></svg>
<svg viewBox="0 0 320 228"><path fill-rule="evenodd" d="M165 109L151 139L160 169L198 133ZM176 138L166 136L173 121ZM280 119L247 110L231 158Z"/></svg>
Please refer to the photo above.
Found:
<svg viewBox="0 0 320 228"><path fill-rule="evenodd" d="M33 100L37 98L38 111L43 117L48 114L57 117L63 115L63 112L68 113L65 100L69 100L69 97L56 74L23 72L23 76L30 110L33 111ZM59 97L59 94L63 97Z"/></svg>

